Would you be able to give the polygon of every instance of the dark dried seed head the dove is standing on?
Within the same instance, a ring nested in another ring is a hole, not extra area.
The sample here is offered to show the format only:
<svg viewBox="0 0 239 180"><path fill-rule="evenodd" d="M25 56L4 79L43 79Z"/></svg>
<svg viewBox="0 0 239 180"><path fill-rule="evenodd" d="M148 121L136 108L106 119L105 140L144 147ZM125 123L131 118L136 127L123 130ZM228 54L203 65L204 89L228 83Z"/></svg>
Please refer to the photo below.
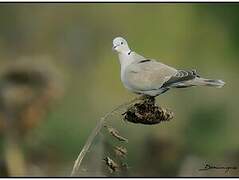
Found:
<svg viewBox="0 0 239 180"><path fill-rule="evenodd" d="M122 115L128 122L148 125L169 121L173 118L173 112L157 106L154 97L146 97L142 102L135 103Z"/></svg>

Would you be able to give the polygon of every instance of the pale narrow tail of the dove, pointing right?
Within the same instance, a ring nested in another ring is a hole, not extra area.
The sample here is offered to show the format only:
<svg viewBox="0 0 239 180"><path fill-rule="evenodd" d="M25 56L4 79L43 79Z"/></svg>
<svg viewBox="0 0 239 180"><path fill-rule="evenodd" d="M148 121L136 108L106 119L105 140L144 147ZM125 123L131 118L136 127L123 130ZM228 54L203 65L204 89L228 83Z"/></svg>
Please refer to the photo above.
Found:
<svg viewBox="0 0 239 180"><path fill-rule="evenodd" d="M205 78L195 78L192 82L194 86L209 86L209 87L216 87L221 88L223 87L225 82L222 80L215 80L215 79L205 79Z"/></svg>

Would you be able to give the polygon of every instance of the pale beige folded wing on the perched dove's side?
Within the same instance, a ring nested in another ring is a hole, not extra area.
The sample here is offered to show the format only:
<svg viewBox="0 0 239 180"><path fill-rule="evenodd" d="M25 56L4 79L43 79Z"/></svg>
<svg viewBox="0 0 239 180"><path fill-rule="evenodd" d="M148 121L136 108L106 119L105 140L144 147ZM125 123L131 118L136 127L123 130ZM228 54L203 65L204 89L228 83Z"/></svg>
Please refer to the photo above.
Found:
<svg viewBox="0 0 239 180"><path fill-rule="evenodd" d="M144 59L126 68L125 79L128 86L134 90L150 91L161 88L177 72L176 69L163 63Z"/></svg>

